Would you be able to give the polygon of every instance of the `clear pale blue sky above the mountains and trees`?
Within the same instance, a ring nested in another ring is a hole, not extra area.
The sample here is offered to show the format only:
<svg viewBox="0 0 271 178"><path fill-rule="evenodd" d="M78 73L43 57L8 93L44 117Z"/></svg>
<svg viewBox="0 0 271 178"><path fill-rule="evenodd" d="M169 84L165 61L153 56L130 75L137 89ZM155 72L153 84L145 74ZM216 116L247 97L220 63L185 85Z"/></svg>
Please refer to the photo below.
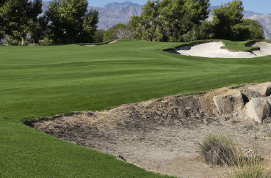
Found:
<svg viewBox="0 0 271 178"><path fill-rule="evenodd" d="M147 0L88 0L89 6L94 7L103 7L107 3L123 3L125 1L130 1L132 3L137 3L139 5L144 5ZM224 3L228 3L229 0L210 0L211 6L220 6L221 3L224 5ZM231 2L231 0L230 0ZM270 14L271 13L271 0L244 0L243 6L244 10L246 11L252 11L257 13L263 13L263 14Z"/></svg>

